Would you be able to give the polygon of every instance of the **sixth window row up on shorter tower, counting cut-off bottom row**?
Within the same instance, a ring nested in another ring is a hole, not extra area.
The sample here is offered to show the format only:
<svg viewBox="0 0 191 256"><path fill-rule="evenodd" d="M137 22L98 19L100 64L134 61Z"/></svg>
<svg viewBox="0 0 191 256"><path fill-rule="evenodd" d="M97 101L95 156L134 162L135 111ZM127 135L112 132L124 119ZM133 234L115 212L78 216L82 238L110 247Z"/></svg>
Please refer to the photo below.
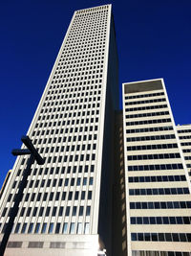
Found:
<svg viewBox="0 0 191 256"><path fill-rule="evenodd" d="M185 175L129 176L130 183L185 181Z"/></svg>

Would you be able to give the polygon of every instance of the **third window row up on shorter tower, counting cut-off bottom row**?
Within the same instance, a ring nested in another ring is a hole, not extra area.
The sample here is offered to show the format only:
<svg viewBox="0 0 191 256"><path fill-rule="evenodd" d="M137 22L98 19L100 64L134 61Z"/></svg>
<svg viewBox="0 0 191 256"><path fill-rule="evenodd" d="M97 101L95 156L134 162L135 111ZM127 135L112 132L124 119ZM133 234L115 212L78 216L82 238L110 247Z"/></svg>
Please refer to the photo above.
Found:
<svg viewBox="0 0 191 256"><path fill-rule="evenodd" d="M191 217L131 217L131 224L191 224Z"/></svg>

